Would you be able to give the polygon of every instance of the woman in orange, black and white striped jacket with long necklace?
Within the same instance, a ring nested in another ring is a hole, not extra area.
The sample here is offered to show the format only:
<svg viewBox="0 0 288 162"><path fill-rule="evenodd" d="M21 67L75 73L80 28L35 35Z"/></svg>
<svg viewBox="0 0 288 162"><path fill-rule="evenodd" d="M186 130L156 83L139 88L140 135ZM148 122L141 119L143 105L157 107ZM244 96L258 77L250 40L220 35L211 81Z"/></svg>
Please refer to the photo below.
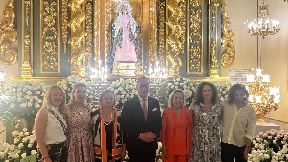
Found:
<svg viewBox="0 0 288 162"><path fill-rule="evenodd" d="M106 90L99 98L100 109L91 113L94 124L94 155L96 162L125 160L126 144L120 127L121 111L117 111L113 91Z"/></svg>

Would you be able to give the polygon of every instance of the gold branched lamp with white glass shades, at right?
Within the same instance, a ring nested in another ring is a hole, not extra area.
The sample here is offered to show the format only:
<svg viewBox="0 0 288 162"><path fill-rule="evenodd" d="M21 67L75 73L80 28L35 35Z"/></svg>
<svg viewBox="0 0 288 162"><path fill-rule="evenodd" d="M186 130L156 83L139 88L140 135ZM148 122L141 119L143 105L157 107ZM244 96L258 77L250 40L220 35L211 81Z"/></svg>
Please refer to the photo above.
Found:
<svg viewBox="0 0 288 162"><path fill-rule="evenodd" d="M279 88L270 87L270 75L262 75L263 69L256 69L255 75L246 75L247 86L249 91L249 103L255 109L257 114L257 123L265 123L262 116L268 115L272 110L276 111L279 106ZM270 89L268 94L266 91Z"/></svg>

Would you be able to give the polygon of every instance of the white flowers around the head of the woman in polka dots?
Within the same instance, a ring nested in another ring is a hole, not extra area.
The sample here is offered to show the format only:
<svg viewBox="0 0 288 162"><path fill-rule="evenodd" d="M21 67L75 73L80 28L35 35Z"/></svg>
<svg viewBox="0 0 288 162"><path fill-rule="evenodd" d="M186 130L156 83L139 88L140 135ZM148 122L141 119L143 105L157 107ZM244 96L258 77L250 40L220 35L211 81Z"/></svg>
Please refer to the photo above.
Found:
<svg viewBox="0 0 288 162"><path fill-rule="evenodd" d="M91 82L90 81L86 82L83 79L80 79L79 82L84 83L87 86L86 102L92 104L93 88L92 86L90 86ZM75 84L76 82L72 82L69 77L67 77L66 79L63 79L62 81L57 82L57 85L63 88L63 90L65 91L66 103L68 103L70 100L71 92Z"/></svg>

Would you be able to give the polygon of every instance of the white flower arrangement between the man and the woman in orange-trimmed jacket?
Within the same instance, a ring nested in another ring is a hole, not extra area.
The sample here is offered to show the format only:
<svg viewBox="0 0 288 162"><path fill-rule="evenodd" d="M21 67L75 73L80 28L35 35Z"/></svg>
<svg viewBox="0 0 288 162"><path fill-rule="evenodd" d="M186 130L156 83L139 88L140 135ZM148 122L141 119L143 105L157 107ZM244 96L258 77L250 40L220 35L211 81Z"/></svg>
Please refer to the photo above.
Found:
<svg viewBox="0 0 288 162"><path fill-rule="evenodd" d="M122 110L125 101L136 97L138 92L136 91L137 82L135 79L124 80L120 78L119 80L112 81L111 86L107 89L114 91L116 95L116 109ZM148 94L149 95L149 94Z"/></svg>

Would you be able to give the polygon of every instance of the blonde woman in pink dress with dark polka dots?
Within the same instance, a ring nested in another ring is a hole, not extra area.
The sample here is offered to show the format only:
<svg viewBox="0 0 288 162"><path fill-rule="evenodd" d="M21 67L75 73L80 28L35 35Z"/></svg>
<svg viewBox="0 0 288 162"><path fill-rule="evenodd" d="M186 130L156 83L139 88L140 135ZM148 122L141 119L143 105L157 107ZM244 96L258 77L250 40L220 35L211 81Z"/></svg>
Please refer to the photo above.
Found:
<svg viewBox="0 0 288 162"><path fill-rule="evenodd" d="M65 107L67 121L67 162L94 162L93 126L90 114L92 106L85 103L87 86L77 83L71 92L69 103Z"/></svg>

